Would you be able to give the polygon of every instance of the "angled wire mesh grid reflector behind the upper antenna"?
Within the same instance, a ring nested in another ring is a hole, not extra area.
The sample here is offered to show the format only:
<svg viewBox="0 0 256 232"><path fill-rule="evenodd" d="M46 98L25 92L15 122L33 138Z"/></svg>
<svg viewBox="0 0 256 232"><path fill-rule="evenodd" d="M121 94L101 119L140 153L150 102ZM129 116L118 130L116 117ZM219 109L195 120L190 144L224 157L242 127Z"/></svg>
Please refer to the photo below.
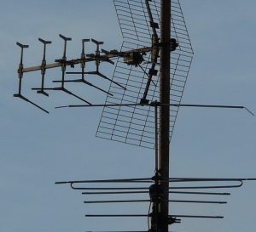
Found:
<svg viewBox="0 0 256 232"><path fill-rule="evenodd" d="M113 0L124 42L121 51L152 46L153 30L144 0ZM160 26L160 0L148 1L154 23ZM172 1L172 38L179 47L172 52L171 59L171 104L179 104L187 82L193 49L178 0ZM156 28L159 34L160 29ZM119 58L113 72L113 81L125 86L126 90L111 83L106 104L139 103L152 68L151 54L143 56L143 64L127 65ZM147 99L159 101L160 65L154 67L157 75L152 77ZM178 107L171 107L170 139L177 119ZM126 144L154 149L154 108L148 106L104 107L96 136Z"/></svg>

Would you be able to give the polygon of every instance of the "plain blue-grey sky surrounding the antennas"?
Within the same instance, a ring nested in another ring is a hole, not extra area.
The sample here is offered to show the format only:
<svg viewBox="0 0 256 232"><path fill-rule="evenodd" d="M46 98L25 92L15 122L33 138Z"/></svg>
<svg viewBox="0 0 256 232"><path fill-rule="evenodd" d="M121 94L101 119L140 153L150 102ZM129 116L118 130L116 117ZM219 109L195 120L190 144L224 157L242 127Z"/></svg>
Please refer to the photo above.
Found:
<svg viewBox="0 0 256 232"><path fill-rule="evenodd" d="M49 99L29 90L40 73L24 78L24 94L50 110L40 110L13 98L17 91L20 48L30 45L24 65L39 65L42 45L53 43L48 62L61 58L58 35L73 37L68 57L80 55L82 38L119 49L122 37L110 0L0 0L0 231L69 232L88 230L145 230L145 219L88 219L85 213L130 212L124 205L88 207L84 196L55 181L90 178L150 177L154 150L95 137L98 109L54 110L78 103L64 93ZM181 0L195 58L183 95L184 104L245 105L256 112L256 2L254 0ZM93 47L90 50L93 51ZM103 65L111 76L113 66ZM47 83L60 78L49 71ZM92 78L92 77L90 77ZM108 82L102 81L108 88ZM25 88L26 87L26 88ZM83 87L74 87L78 93ZM103 103L105 95L88 91L88 99ZM87 97L87 93L84 95ZM171 143L172 177L255 178L256 120L245 110L181 109ZM256 183L232 190L228 205L172 205L172 213L224 215L223 220L190 220L171 230L189 232L247 232L255 230ZM214 199L216 200L216 199ZM147 213L148 206L137 206Z"/></svg>

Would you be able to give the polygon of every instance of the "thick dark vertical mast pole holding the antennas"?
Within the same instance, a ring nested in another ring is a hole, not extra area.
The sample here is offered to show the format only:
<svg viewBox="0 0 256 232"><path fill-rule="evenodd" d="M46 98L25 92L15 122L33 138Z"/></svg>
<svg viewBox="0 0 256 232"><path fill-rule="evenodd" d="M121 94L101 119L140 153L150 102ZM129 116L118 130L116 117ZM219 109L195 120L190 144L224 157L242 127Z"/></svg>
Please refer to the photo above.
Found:
<svg viewBox="0 0 256 232"><path fill-rule="evenodd" d="M171 37L171 0L160 3L160 134L159 134L159 172L160 189L163 196L159 204L158 229L168 232L169 214L169 123L170 123L170 37Z"/></svg>

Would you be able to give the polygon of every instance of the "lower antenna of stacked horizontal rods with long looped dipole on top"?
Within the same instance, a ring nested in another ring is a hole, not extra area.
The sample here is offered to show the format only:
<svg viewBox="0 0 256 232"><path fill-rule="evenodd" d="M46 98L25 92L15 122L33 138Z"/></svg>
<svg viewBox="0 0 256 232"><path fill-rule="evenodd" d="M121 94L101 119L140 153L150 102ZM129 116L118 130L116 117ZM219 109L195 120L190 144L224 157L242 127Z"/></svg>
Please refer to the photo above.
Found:
<svg viewBox="0 0 256 232"><path fill-rule="evenodd" d="M172 184L168 188L170 200L163 201L166 204L192 205L219 205L227 204L227 197L232 190L241 188L244 182L255 181L255 178L168 178L162 182ZM167 221L162 221L157 212L157 205L162 195L164 195L159 184L157 174L152 178L117 178L117 179L88 179L72 180L66 182L56 182L55 184L68 184L71 189L82 191L84 204L97 204L104 207L106 204L115 204L134 207L137 204L148 204L148 214L86 214L85 217L93 218L149 218L148 231L162 231L159 224L179 224L183 218L198 219L222 219L224 216L215 215L195 215L195 214L171 214L167 216ZM101 200L97 196L101 195ZM114 195L113 200L108 200L110 195ZM128 198L129 195L129 198ZM179 196L179 199L176 197ZM204 197L204 200L195 199L195 196ZM105 198L106 197L106 200ZM182 197L182 200L180 199ZM103 199L102 199L103 198Z"/></svg>

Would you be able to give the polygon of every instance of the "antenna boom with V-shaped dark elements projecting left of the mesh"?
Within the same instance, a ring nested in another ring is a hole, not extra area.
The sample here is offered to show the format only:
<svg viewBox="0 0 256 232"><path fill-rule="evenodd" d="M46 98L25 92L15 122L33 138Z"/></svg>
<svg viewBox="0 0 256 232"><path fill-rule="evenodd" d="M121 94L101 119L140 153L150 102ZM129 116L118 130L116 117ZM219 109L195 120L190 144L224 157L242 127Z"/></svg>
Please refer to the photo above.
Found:
<svg viewBox="0 0 256 232"><path fill-rule="evenodd" d="M102 62L108 62L110 64L114 64L113 61L111 60L112 58L116 58L116 57L125 57L127 54L126 53L119 53L116 50L111 51L111 53L107 52L106 50L102 49L102 51L100 50L100 45L103 44L103 42L98 42L95 39L83 39L82 40L82 52L81 52L81 56L80 58L77 59L67 59L67 42L71 41L72 38L71 37L65 37L63 35L59 35L61 37L61 39L64 41L64 48L63 48L63 54L61 59L55 59L55 63L52 64L47 64L46 62L46 47L49 43L51 43L50 41L46 41L42 38L38 38L39 42L42 42L44 44L44 52L43 52L43 59L41 62L41 65L36 65L36 66L31 66L31 67L24 67L23 66L23 52L24 52L24 48L28 48L28 45L23 45L20 42L17 42L17 45L21 48L21 54L20 54L20 64L19 64L19 68L18 68L18 77L19 77L19 88L18 88L18 93L15 93L14 96L15 97L19 97L20 99L26 100L26 102L38 107L38 109L40 110L44 110L44 108L42 108L41 106L33 103L30 99L27 99L24 95L21 94L21 86L22 86L22 80L24 77L24 74L26 72L33 72L33 71L41 71L41 75L42 75L42 80L41 80L41 87L40 88L32 88L32 90L36 90L37 93L41 93L44 94L44 96L49 97L49 91L62 91L64 93L67 93L69 95L72 95L74 98L79 99L81 101L83 101L86 105L92 105L88 100L83 99L81 97L79 97L79 95L71 92L70 90L68 90L67 88L67 83L69 82L82 82L92 88L96 88L97 90L100 90L103 93L107 93L108 95L113 96L112 93L109 93L108 91L96 86L95 84L88 82L85 79L85 75L95 75L98 77L101 77L105 80L107 80L108 82L112 82L113 85L118 86L119 88L123 88L125 89L124 86L122 86L121 84L119 84L119 82L115 82L113 80L111 80L111 78L108 78L108 76L105 76L104 74L102 74L102 72L100 71L100 64ZM85 54L85 42L93 42L96 44L96 52L95 54ZM95 62L96 65L96 71L85 71L85 64L87 62ZM67 67L71 67L74 68L75 65L80 65L81 67L81 71L67 71ZM60 86L59 87L45 87L44 86L44 81L45 81L45 76L46 76L46 71L48 69L53 69L53 68L61 68L61 80L55 80L53 81L54 83L58 83ZM81 78L79 79L67 79L66 78L66 74L72 74L72 75L76 75L79 74L81 75ZM49 113L48 110L44 110L44 112Z"/></svg>

